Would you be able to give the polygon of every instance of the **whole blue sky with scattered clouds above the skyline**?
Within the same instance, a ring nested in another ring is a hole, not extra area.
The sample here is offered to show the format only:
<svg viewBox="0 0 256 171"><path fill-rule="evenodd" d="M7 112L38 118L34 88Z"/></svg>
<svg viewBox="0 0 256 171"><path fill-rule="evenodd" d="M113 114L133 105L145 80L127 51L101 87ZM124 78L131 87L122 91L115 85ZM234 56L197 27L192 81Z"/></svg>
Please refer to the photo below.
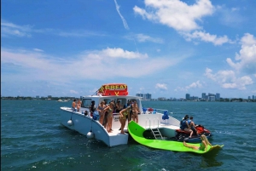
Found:
<svg viewBox="0 0 256 171"><path fill-rule="evenodd" d="M1 95L256 95L256 1L2 0Z"/></svg>

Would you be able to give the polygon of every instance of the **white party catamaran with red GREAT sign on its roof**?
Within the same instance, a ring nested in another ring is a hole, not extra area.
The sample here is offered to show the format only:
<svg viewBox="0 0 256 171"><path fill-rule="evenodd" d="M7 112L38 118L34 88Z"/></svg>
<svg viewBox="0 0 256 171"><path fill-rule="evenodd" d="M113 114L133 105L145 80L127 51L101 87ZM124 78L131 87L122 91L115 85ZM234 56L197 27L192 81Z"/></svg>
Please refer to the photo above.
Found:
<svg viewBox="0 0 256 171"><path fill-rule="evenodd" d="M168 111L152 108L143 108L140 97L128 95L127 85L124 83L108 83L96 92L96 95L84 96L79 111L74 111L72 107L61 107L61 124L67 128L87 135L88 138L102 140L108 146L124 145L128 143L129 134L120 134L119 113L113 112L113 122L111 133L99 123L98 118L90 116L91 101L95 101L96 107L102 100L107 104L114 100L120 101L121 105L127 104L128 100L136 100L140 114L138 124L145 129L151 129L156 139L163 137L175 137L176 130L179 129L180 122L168 115ZM84 113L89 113L84 115ZM127 132L128 121L125 124Z"/></svg>

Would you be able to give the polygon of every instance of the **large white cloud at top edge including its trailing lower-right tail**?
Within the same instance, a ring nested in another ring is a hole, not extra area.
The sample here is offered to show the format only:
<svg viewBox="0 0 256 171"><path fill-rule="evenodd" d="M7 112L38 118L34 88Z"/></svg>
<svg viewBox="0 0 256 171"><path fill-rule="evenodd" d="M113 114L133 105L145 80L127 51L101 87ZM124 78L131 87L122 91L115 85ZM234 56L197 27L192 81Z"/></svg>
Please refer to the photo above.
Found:
<svg viewBox="0 0 256 171"><path fill-rule="evenodd" d="M197 24L197 21L214 12L215 8L210 0L197 0L192 5L180 0L145 0L144 2L146 8L135 6L133 8L135 14L141 15L143 19L172 27L187 41L197 39L214 45L234 43L226 35L218 37L203 31L202 26Z"/></svg>

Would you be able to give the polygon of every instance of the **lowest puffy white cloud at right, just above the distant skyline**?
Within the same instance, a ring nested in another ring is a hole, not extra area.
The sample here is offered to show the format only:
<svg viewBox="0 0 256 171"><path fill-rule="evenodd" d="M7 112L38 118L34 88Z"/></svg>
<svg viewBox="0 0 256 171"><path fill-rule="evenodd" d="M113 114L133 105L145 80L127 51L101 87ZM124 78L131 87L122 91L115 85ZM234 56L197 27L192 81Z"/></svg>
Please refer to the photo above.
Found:
<svg viewBox="0 0 256 171"><path fill-rule="evenodd" d="M251 77L236 77L236 73L231 70L218 71L216 74L212 74L212 70L207 68L204 75L220 84L222 88L246 89L247 85L253 84Z"/></svg>

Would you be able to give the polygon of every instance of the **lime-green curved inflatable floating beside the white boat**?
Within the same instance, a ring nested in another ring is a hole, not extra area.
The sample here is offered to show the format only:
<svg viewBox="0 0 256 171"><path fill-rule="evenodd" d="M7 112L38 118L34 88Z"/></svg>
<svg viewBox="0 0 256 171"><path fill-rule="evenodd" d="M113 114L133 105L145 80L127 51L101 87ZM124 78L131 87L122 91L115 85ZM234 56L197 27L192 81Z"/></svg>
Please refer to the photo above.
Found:
<svg viewBox="0 0 256 171"><path fill-rule="evenodd" d="M131 134L131 137L134 140L136 140L139 144L145 145L151 148L155 148L155 149L166 150L166 151L195 152L199 154L204 154L204 153L207 153L208 151L220 149L223 146L223 145L214 145L214 146L208 145L207 151L196 151L194 149L184 146L183 142L177 142L172 140L148 140L143 137L143 132L145 131L145 128L141 127L134 121L131 121L131 123L129 123L128 131L129 131L129 134ZM190 143L187 143L187 144L189 145ZM200 144L190 144L190 145L200 146Z"/></svg>

